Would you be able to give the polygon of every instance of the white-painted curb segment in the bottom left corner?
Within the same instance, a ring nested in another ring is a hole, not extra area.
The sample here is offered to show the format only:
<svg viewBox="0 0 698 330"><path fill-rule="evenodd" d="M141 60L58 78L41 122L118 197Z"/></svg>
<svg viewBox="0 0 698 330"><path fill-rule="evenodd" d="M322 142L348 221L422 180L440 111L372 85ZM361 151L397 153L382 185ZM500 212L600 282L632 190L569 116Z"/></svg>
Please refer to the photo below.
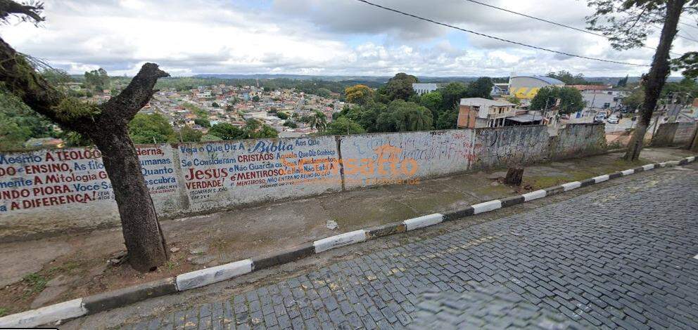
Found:
<svg viewBox="0 0 698 330"><path fill-rule="evenodd" d="M82 298L77 298L36 310L27 310L26 312L0 317L0 328L33 328L86 314L87 310L82 305Z"/></svg>

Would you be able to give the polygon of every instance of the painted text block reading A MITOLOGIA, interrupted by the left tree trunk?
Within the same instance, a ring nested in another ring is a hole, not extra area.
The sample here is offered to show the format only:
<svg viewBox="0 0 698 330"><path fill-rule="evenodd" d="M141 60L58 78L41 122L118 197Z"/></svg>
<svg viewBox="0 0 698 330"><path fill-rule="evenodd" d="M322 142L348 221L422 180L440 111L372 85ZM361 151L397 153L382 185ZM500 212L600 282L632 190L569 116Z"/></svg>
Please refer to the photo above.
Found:
<svg viewBox="0 0 698 330"><path fill-rule="evenodd" d="M153 199L177 190L170 146L141 146L137 154ZM0 213L113 200L99 150L0 154Z"/></svg>

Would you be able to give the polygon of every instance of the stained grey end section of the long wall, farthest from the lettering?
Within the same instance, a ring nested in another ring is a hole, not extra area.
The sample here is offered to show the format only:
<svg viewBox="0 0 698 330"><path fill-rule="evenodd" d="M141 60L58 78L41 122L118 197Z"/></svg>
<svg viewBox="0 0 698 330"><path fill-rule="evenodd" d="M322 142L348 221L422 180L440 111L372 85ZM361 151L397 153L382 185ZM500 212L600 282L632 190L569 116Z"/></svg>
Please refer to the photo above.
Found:
<svg viewBox="0 0 698 330"><path fill-rule="evenodd" d="M550 137L550 159L602 154L607 147L604 124L570 124Z"/></svg>

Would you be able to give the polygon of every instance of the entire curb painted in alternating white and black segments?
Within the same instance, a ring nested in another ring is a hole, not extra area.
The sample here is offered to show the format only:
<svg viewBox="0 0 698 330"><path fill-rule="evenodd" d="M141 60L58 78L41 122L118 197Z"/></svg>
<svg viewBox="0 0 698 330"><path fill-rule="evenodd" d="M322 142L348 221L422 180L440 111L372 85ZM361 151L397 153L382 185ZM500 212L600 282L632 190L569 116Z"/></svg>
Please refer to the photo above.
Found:
<svg viewBox="0 0 698 330"><path fill-rule="evenodd" d="M603 176L595 176L586 180L564 183L554 187L547 187L542 190L528 192L526 194L516 195L503 199L495 199L473 206L468 206L464 209L451 211L448 213L433 213L428 216L420 216L418 218L407 219L398 223L388 223L353 232L345 232L340 235L318 239L315 242L307 242L299 246L294 246L289 249L274 251L255 258L227 263L203 270L187 272L177 277L160 279L155 282L130 286L117 291L109 291L100 293L86 298L78 298L64 303L49 305L36 310L27 310L18 314L0 317L0 328L18 328L18 327L34 327L44 324L53 324L65 319L72 319L84 315L103 312L112 308L119 308L137 301L144 301L148 298L163 296L170 293L196 289L201 286L222 282L227 279L248 274L255 270L262 270L284 263L312 256L316 253L322 253L331 249L336 249L341 246L348 246L364 242L378 237L398 234L419 228L437 225L444 221L457 220L467 216L473 216L478 213L485 213L501 209L503 207L513 206L524 202L531 202L535 199L540 199L561 192L566 192L579 187L586 187L596 183L602 183L622 176L629 176L633 173L643 171L651 171L659 167L680 166L689 164L696 160L696 157L686 157L678 161L663 161L658 164L647 164L635 169L627 169L615 173L605 174Z"/></svg>

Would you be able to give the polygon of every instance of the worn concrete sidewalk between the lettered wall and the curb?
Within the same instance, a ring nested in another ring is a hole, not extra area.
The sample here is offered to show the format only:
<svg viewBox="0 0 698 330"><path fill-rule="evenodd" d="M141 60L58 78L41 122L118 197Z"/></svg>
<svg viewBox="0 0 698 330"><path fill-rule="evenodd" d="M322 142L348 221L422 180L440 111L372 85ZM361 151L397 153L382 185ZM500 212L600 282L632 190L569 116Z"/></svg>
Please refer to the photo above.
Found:
<svg viewBox="0 0 698 330"><path fill-rule="evenodd" d="M685 150L646 149L644 161L678 159ZM528 166L523 187L537 190L644 164L622 154L605 154ZM393 185L326 194L209 216L163 221L172 251L170 263L140 274L127 265L108 266L124 249L120 228L29 242L0 244L0 314L67 301L101 291L149 282L204 267L257 256L303 242L371 225L435 212L448 212L514 194L497 178L504 172L464 173ZM519 191L520 192L520 191ZM328 220L336 222L334 230ZM24 278L24 280L22 280Z"/></svg>

